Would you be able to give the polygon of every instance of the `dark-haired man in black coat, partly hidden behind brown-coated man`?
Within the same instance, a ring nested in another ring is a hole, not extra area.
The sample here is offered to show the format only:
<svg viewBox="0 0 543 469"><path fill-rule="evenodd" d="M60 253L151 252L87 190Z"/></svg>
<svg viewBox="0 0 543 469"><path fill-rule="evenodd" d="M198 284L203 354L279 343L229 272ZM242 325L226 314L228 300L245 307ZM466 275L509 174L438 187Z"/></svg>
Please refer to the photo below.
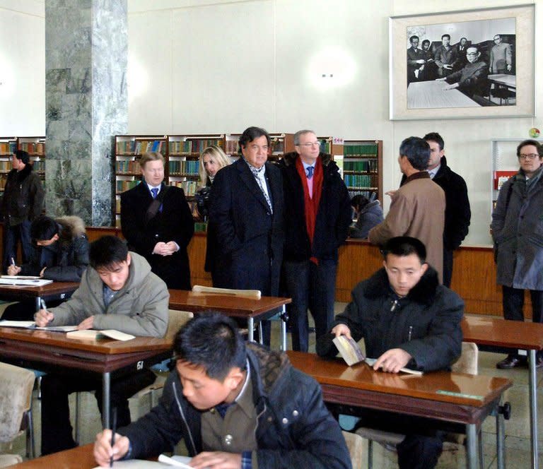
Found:
<svg viewBox="0 0 543 469"><path fill-rule="evenodd" d="M453 172L445 158L445 142L437 132L423 137L430 146L428 174L445 192L445 229L443 230L443 285L450 287L452 252L460 247L469 230L472 211L469 208L464 178Z"/></svg>

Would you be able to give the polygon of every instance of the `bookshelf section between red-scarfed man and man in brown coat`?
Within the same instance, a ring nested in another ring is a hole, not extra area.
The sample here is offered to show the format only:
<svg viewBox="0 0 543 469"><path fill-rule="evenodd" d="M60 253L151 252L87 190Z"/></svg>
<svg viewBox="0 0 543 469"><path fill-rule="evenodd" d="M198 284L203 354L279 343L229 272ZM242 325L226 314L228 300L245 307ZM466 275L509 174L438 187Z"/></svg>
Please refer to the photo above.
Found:
<svg viewBox="0 0 543 469"><path fill-rule="evenodd" d="M343 156L349 196L362 194L370 200L378 198L383 206L383 141L345 140Z"/></svg>

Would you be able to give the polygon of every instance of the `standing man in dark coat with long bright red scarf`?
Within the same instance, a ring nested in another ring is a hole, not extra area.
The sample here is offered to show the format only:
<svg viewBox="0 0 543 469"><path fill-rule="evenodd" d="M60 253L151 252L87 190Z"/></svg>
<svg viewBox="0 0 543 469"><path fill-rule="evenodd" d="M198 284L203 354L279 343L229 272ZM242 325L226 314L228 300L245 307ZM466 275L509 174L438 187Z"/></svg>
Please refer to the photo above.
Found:
<svg viewBox="0 0 543 469"><path fill-rule="evenodd" d="M284 283L292 298L293 350L308 351L308 308L317 338L334 318L337 249L349 235L351 201L332 157L320 153L315 132L294 134L296 153L281 160L288 236Z"/></svg>

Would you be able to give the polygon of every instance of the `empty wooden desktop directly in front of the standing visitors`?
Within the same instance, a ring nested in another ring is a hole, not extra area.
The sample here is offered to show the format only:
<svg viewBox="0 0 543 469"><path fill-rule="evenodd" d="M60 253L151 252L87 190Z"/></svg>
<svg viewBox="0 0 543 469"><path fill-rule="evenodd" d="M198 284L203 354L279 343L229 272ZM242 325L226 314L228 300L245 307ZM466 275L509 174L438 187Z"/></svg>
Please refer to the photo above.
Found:
<svg viewBox="0 0 543 469"><path fill-rule="evenodd" d="M281 297L253 299L216 293L194 293L187 290L169 290L169 292L171 309L193 312L215 309L223 311L228 316L240 318L257 317L292 302L291 298Z"/></svg>

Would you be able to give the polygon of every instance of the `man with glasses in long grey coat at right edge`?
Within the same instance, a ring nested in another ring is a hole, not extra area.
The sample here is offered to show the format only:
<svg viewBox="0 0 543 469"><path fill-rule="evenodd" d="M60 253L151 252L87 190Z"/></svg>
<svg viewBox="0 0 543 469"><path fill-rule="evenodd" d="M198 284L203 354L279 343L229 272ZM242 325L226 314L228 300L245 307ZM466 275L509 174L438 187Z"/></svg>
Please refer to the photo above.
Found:
<svg viewBox="0 0 543 469"><path fill-rule="evenodd" d="M543 322L543 147L525 140L517 147L518 174L498 194L492 213L498 285L502 286L503 317L524 321L524 292L530 290L532 321ZM496 367L526 365L526 357L510 354ZM537 352L537 367L543 354Z"/></svg>

